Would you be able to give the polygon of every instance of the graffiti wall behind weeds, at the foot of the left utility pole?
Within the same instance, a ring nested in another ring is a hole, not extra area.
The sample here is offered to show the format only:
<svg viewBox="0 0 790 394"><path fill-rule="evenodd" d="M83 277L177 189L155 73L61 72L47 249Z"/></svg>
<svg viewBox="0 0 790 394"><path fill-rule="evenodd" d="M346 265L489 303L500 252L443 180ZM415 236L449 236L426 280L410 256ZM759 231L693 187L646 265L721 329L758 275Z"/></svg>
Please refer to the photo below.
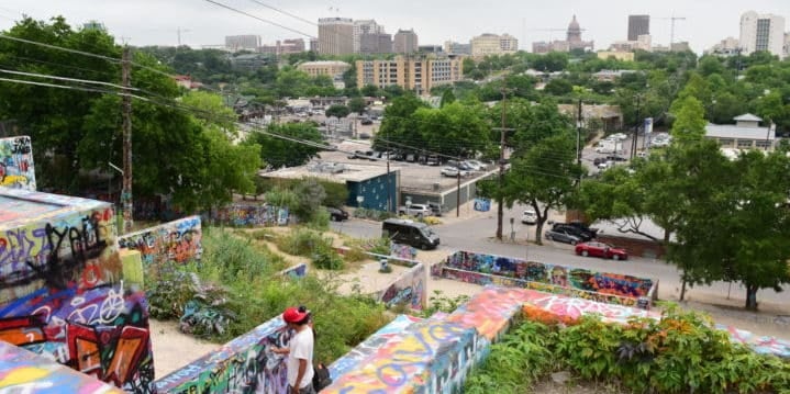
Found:
<svg viewBox="0 0 790 394"><path fill-rule="evenodd" d="M146 267L185 263L200 260L203 252L202 235L200 216L189 216L124 235L118 245L140 251Z"/></svg>

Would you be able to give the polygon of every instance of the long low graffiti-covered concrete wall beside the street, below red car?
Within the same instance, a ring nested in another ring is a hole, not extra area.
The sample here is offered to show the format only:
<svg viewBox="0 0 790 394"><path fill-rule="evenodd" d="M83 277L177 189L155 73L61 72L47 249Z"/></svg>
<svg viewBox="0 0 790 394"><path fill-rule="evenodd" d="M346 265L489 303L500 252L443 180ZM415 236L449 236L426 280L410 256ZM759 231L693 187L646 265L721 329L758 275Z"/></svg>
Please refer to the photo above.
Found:
<svg viewBox="0 0 790 394"><path fill-rule="evenodd" d="M658 282L650 279L469 251L450 255L445 263L432 267L432 274L643 308L649 308L658 293Z"/></svg>

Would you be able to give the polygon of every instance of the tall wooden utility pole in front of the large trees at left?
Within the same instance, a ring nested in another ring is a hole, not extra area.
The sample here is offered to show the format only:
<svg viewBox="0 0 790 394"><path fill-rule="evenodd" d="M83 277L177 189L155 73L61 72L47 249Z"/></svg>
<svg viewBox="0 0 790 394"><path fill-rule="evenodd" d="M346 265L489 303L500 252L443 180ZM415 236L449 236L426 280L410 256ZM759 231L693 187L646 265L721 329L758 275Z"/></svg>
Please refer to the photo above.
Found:
<svg viewBox="0 0 790 394"><path fill-rule="evenodd" d="M121 115L123 117L123 190L121 191L121 205L123 206L123 234L132 232L133 210L132 203L132 54L129 46L123 47L121 59Z"/></svg>

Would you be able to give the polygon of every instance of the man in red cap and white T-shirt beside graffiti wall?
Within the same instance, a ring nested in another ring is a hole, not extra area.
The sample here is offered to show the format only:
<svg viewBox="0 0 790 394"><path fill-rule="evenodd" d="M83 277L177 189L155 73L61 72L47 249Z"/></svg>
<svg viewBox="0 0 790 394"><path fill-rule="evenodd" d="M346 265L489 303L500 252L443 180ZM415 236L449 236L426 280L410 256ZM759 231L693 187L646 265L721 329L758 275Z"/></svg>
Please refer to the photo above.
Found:
<svg viewBox="0 0 790 394"><path fill-rule="evenodd" d="M288 328L297 334L288 342L287 348L276 348L274 351L288 354L289 394L315 394L313 390L313 329L310 322L310 312L304 307L289 307L282 313L282 320Z"/></svg>

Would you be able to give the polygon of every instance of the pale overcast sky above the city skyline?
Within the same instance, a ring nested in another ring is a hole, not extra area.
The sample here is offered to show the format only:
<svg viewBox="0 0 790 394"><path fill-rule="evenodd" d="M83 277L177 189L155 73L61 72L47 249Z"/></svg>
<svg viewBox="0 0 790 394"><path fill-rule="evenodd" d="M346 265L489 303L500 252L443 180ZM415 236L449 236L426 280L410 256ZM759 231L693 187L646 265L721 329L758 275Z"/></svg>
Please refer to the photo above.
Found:
<svg viewBox="0 0 790 394"><path fill-rule="evenodd" d="M64 15L73 26L90 20L104 23L110 34L130 44L176 45L178 30L181 43L192 47L221 45L225 35L257 34L263 43L318 35L315 24L285 15L260 4L316 22L319 18L345 16L375 19L388 33L414 29L420 45L442 45L447 40L466 43L481 33L510 33L519 46L531 49L533 41L563 38L574 14L586 31L583 40L594 40L596 49L625 40L628 14L649 14L653 42L669 42L669 20L677 21L675 41L688 41L701 53L727 36L738 36L741 14L748 10L774 13L790 19L790 0L554 0L554 1L470 1L470 0L214 0L229 7L290 27L282 27L245 16L205 0L4 0L0 3L0 29L8 30L22 14L38 20ZM786 23L786 31L790 23Z"/></svg>

